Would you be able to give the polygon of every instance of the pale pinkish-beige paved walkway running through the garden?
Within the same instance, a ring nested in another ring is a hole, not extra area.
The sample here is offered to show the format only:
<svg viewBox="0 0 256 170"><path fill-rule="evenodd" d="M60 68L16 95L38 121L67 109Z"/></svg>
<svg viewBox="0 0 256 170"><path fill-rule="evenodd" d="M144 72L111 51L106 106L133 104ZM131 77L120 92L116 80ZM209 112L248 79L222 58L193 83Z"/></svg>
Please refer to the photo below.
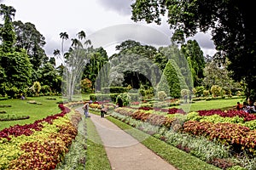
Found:
<svg viewBox="0 0 256 170"><path fill-rule="evenodd" d="M113 170L176 170L113 122L90 114Z"/></svg>

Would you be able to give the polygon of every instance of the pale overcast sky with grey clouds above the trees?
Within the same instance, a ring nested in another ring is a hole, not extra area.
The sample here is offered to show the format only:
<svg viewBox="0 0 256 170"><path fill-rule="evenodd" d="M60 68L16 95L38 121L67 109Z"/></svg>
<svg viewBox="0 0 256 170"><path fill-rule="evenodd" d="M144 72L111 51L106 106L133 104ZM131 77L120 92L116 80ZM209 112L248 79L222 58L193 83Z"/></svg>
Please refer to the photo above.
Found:
<svg viewBox="0 0 256 170"><path fill-rule="evenodd" d="M46 54L54 49L61 50L61 32L67 32L69 39L79 31L85 31L94 47L102 46L108 55L114 47L127 39L143 42L155 47L171 44L172 31L162 21L160 26L135 23L131 20L131 3L134 0L0 0L16 9L15 20L31 22L45 37ZM204 55L215 53L209 34L199 33L196 39ZM70 46L66 42L66 48Z"/></svg>

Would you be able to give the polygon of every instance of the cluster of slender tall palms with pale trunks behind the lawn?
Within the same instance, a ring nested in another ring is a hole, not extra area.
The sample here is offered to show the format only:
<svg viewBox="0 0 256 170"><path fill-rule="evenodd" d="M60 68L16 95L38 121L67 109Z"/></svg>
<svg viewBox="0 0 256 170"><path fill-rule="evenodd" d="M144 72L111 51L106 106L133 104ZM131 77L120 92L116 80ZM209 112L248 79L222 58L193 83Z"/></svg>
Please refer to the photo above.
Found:
<svg viewBox="0 0 256 170"><path fill-rule="evenodd" d="M84 31L79 31L77 36L79 38L71 39L71 47L64 54L63 42L68 39L67 32L60 33L62 42L61 42L61 50L62 50L62 60L61 67L58 67L60 73L62 72L62 93L67 95L68 100L72 100L73 94L79 92L80 81L83 76L84 66L87 65L90 61L90 54L92 47L90 45L90 40L81 42L85 39L86 35ZM55 49L55 56L59 56L60 51Z"/></svg>

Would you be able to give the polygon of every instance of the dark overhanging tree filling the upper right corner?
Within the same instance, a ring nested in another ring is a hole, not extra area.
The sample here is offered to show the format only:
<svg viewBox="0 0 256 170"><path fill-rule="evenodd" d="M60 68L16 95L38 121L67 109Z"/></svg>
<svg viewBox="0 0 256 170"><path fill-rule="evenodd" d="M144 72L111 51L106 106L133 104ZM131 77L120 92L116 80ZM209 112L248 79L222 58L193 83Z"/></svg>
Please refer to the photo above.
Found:
<svg viewBox="0 0 256 170"><path fill-rule="evenodd" d="M175 29L173 41L184 42L198 31L211 31L220 59L229 59L228 70L236 81L247 83L247 95L256 92L256 22L254 6L243 1L137 0L131 5L132 20L160 24L168 14Z"/></svg>

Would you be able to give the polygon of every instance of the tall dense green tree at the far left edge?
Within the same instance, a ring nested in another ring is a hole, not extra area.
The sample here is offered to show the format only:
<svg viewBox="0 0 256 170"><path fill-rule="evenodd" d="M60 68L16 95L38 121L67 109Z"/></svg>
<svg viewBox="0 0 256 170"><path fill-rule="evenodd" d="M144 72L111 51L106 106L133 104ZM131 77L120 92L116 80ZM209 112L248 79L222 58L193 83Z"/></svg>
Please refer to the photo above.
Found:
<svg viewBox="0 0 256 170"><path fill-rule="evenodd" d="M0 82L2 95L15 97L24 92L30 85L32 65L26 51L15 48L15 30L11 16L15 15L15 8L0 5L0 14L3 15L3 27L0 30L2 44L0 45L0 74L3 76Z"/></svg>

